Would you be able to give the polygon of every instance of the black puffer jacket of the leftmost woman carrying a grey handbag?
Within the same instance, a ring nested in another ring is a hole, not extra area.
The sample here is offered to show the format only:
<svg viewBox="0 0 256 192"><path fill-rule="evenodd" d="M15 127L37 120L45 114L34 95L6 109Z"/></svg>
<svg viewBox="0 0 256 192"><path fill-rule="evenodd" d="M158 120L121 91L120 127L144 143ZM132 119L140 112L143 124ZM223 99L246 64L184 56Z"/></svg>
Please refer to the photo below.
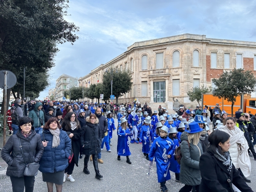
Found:
<svg viewBox="0 0 256 192"><path fill-rule="evenodd" d="M26 163L38 163L44 153L44 146L40 134L37 134L32 127L32 133L25 138L19 128L17 134L12 135L4 145L1 157L8 164L6 175L12 177L23 177L25 162L20 151L20 142L23 147L23 153L26 157ZM12 152L12 154L10 154Z"/></svg>

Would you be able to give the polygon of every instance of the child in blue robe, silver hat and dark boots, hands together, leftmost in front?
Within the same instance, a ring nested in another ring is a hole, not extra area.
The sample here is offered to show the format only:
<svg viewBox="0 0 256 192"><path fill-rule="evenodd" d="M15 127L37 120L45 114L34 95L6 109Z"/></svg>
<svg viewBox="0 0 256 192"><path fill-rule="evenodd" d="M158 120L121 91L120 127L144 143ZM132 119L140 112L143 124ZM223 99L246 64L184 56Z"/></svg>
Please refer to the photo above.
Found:
<svg viewBox="0 0 256 192"><path fill-rule="evenodd" d="M121 156L126 156L126 163L131 164L129 155L131 155L129 149L130 130L127 127L127 120L125 118L121 119L121 125L117 128L117 160L121 160Z"/></svg>

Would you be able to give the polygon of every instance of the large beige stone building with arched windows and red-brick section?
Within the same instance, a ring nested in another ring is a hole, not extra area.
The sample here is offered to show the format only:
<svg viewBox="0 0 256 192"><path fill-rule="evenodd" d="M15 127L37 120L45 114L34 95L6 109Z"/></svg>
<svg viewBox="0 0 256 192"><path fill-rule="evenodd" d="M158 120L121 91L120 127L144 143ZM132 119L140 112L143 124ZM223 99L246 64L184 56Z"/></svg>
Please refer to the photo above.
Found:
<svg viewBox="0 0 256 192"><path fill-rule="evenodd" d="M256 42L192 34L136 42L121 55L79 78L80 86L102 82L102 74L111 65L129 67L132 71L131 91L119 98L119 103L136 98L154 109L158 105L172 109L173 101L178 99L180 104L195 107L197 103L191 103L187 96L192 87L214 86L212 79L233 68L256 72Z"/></svg>

